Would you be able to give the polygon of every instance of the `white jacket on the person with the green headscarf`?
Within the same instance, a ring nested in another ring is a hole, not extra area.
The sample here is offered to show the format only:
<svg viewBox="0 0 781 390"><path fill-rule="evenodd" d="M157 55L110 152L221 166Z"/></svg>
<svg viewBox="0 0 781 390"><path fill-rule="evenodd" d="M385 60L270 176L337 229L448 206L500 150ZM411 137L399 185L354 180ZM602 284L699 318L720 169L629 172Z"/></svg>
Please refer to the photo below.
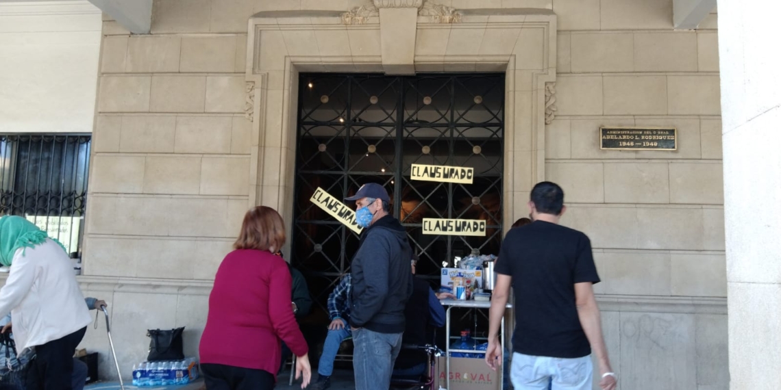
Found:
<svg viewBox="0 0 781 390"><path fill-rule="evenodd" d="M47 239L34 248L16 250L8 280L0 289L0 317L9 311L19 353L91 322L73 264L59 244Z"/></svg>

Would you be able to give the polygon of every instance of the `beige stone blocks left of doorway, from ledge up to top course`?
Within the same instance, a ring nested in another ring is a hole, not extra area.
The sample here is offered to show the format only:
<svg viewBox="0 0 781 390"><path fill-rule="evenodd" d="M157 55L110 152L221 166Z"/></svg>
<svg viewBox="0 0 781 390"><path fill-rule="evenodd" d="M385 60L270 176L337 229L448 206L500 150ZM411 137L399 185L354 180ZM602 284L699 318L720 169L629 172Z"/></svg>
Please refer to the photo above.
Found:
<svg viewBox="0 0 781 390"><path fill-rule="evenodd" d="M213 278L249 207L246 36L129 36L115 23L104 21L84 274Z"/></svg>

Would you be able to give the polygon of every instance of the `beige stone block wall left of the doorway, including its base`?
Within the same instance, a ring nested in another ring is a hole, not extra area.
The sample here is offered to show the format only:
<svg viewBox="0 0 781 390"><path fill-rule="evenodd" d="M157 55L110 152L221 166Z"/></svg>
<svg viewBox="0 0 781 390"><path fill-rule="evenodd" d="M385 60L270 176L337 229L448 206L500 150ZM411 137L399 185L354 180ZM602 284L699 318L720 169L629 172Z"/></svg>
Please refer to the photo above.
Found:
<svg viewBox="0 0 781 390"><path fill-rule="evenodd" d="M222 3L215 9L235 8ZM102 22L80 281L85 295L109 302L125 378L146 358L147 329L185 326L185 353L198 355L211 281L251 206L244 56L252 12L234 15L244 27L236 31L166 27L195 26L210 9L155 2L144 36L109 16ZM100 353L103 378L116 378L102 318L82 347Z"/></svg>

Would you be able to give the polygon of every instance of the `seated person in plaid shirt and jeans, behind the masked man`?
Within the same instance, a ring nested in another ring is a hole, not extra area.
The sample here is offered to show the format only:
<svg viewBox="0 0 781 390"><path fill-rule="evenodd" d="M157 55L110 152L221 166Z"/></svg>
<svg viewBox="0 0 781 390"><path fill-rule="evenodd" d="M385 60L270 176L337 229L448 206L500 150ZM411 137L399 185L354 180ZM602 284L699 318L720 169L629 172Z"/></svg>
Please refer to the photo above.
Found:
<svg viewBox="0 0 781 390"><path fill-rule="evenodd" d="M348 326L351 293L351 276L347 274L341 278L339 284L328 296L328 314L331 318L331 324L328 325L328 335L323 344L323 354L320 355L320 363L317 367L319 378L309 387L311 390L325 390L331 387L333 360L339 352L341 342L352 335Z"/></svg>

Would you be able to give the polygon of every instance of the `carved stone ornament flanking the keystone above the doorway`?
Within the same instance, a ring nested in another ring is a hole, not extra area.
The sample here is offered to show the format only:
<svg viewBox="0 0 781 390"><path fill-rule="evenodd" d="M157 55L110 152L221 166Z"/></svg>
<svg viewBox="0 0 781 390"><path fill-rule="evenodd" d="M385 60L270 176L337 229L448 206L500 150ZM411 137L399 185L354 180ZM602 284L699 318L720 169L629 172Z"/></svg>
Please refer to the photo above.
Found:
<svg viewBox="0 0 781 390"><path fill-rule="evenodd" d="M379 16L382 8L416 8L419 16L431 16L434 23L461 22L461 12L430 0L372 0L342 14L344 24L364 24L372 16Z"/></svg>

